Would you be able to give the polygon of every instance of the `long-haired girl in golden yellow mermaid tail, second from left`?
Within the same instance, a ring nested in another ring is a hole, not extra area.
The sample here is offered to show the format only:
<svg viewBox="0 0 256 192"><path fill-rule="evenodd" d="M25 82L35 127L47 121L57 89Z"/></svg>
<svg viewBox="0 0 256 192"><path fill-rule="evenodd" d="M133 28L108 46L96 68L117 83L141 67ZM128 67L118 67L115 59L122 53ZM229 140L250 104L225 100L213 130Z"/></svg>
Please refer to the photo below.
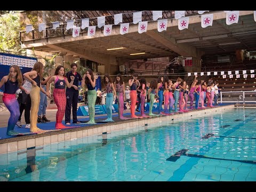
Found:
<svg viewBox="0 0 256 192"><path fill-rule="evenodd" d="M23 77L31 82L32 88L30 91L31 109L30 109L30 132L45 132L37 127L37 114L40 102L40 91L51 99L49 92L44 91L41 86L43 79L43 63L36 62L33 69L25 74Z"/></svg>

